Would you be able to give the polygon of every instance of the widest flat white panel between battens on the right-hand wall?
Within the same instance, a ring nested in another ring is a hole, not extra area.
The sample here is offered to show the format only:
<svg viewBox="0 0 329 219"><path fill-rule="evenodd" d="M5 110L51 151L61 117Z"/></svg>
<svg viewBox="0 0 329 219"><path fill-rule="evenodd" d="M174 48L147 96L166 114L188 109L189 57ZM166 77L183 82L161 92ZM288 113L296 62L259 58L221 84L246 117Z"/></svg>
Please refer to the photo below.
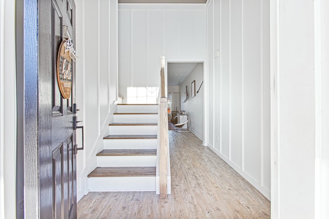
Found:
<svg viewBox="0 0 329 219"><path fill-rule="evenodd" d="M260 182L261 152L261 9L260 1L244 3L244 163L243 171Z"/></svg>

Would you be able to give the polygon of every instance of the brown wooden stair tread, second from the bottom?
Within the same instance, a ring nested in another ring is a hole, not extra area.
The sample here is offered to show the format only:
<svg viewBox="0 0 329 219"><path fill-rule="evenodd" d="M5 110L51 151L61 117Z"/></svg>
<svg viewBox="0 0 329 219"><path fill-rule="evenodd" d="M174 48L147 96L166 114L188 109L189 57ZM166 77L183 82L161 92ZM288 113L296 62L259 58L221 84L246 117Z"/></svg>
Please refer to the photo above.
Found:
<svg viewBox="0 0 329 219"><path fill-rule="evenodd" d="M156 149L113 149L103 150L96 156L154 156Z"/></svg>

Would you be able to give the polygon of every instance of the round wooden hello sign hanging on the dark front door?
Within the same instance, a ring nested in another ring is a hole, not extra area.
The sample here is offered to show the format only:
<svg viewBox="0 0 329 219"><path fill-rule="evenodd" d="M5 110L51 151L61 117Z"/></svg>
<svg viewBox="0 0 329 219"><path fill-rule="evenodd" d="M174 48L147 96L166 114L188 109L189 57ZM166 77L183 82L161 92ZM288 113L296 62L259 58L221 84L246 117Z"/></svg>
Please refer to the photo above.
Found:
<svg viewBox="0 0 329 219"><path fill-rule="evenodd" d="M65 52L65 40L60 45L57 57L57 81L64 99L69 99L72 90L72 59Z"/></svg>

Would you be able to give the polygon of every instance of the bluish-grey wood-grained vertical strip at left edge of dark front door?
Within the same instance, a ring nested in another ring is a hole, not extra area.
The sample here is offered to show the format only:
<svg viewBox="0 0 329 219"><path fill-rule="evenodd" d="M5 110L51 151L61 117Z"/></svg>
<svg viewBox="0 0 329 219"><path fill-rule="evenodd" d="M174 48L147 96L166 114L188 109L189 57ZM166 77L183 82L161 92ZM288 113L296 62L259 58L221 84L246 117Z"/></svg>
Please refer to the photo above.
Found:
<svg viewBox="0 0 329 219"><path fill-rule="evenodd" d="M45 2L45 1L41 1ZM51 1L50 1L51 2ZM16 1L24 10L24 217L40 218L38 166L38 0ZM39 18L40 19L40 18ZM42 45L40 45L42 46ZM37 54L37 55L35 55ZM22 94L17 94L19 97ZM20 98L17 98L19 100ZM28 109L28 110L27 110ZM18 136L18 133L17 133Z"/></svg>

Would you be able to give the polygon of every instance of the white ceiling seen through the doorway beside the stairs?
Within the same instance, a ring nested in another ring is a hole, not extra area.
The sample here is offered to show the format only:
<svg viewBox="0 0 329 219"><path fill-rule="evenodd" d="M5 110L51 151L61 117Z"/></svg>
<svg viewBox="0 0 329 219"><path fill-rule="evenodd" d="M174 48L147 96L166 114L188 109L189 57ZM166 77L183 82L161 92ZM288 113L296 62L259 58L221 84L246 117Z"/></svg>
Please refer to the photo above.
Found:
<svg viewBox="0 0 329 219"><path fill-rule="evenodd" d="M168 63L168 86L178 86L190 75L197 63ZM178 76L175 76L178 75Z"/></svg>

